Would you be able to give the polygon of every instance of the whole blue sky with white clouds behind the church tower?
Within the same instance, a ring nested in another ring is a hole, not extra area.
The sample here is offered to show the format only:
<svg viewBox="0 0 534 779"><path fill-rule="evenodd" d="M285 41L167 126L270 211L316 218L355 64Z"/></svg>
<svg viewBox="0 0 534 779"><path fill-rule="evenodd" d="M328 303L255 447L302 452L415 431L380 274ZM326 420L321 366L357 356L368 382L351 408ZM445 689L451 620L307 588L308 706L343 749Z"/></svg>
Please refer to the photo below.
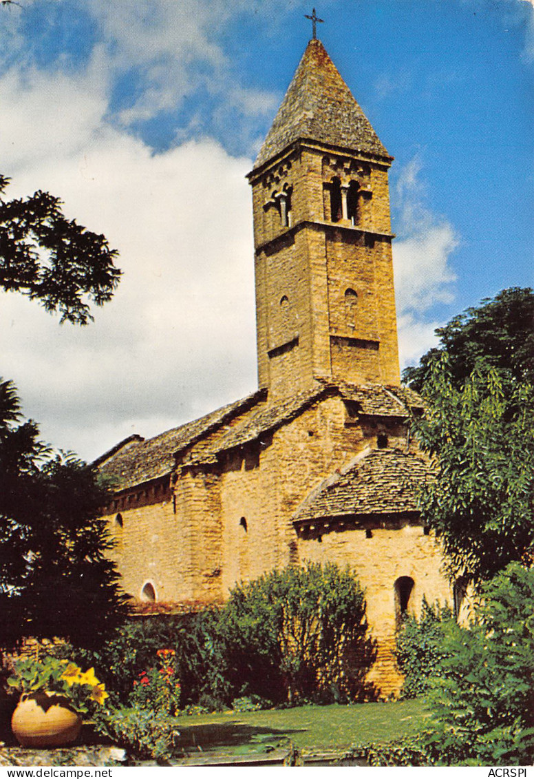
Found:
<svg viewBox="0 0 534 779"><path fill-rule="evenodd" d="M2 373L54 446L97 456L255 389L244 174L311 35L300 0L0 9L0 170L121 254L80 330L4 295ZM532 286L530 0L322 0L318 35L383 143L399 344Z"/></svg>

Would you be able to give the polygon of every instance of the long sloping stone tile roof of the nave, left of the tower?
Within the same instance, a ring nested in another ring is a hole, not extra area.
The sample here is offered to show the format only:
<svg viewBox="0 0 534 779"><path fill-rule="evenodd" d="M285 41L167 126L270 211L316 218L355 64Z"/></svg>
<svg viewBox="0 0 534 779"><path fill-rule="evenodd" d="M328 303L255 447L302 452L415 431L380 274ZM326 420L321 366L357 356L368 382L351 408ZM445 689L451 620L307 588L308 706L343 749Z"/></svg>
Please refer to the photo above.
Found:
<svg viewBox="0 0 534 779"><path fill-rule="evenodd" d="M97 460L97 464L100 464L99 471L104 478L109 478L112 487L117 490L170 474L174 469L175 453L264 397L265 392L259 390L242 400L218 408L211 414L160 433L152 439L137 438L116 453L111 449L111 456L108 456L107 460L103 457Z"/></svg>

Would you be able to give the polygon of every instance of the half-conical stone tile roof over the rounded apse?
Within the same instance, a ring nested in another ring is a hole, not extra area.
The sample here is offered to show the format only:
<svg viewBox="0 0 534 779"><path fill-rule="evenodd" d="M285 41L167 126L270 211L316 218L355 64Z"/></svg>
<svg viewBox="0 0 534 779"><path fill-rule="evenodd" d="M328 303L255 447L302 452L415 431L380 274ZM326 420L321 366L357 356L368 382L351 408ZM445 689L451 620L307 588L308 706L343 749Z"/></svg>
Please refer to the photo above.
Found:
<svg viewBox="0 0 534 779"><path fill-rule="evenodd" d="M399 449L366 449L343 471L307 496L293 522L358 514L398 514L417 510L415 492L429 475L427 463Z"/></svg>

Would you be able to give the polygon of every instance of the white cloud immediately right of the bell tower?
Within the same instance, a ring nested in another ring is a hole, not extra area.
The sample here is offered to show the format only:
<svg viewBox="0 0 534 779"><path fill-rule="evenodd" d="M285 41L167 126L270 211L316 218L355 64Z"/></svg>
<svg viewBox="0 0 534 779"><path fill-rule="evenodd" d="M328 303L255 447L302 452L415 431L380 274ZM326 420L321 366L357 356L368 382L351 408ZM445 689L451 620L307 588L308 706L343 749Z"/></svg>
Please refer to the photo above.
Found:
<svg viewBox="0 0 534 779"><path fill-rule="evenodd" d="M401 210L393 266L401 367L416 362L436 341L434 330L443 323L427 321L427 312L455 297L456 275L450 257L458 246L458 235L448 220L425 206L421 167L420 157L413 157L397 183Z"/></svg>

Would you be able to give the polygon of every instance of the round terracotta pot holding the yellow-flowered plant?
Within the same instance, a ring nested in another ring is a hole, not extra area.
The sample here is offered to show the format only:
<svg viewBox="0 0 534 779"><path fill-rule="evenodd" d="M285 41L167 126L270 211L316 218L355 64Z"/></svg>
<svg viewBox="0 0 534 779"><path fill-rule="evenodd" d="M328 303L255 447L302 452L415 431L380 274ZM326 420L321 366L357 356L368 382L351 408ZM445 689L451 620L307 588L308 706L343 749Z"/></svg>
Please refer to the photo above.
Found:
<svg viewBox="0 0 534 779"><path fill-rule="evenodd" d="M64 746L78 738L82 717L55 693L25 693L11 718L20 746Z"/></svg>

